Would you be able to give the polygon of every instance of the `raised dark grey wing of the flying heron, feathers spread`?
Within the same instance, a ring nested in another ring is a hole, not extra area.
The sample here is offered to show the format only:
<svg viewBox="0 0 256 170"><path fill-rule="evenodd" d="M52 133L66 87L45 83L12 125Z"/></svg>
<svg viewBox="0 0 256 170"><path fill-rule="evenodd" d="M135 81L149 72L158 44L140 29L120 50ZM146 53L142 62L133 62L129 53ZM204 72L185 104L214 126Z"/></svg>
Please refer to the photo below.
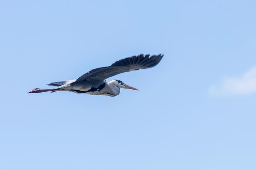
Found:
<svg viewBox="0 0 256 170"><path fill-rule="evenodd" d="M95 68L79 77L76 81L83 81L85 79L104 80L120 73L150 68L157 65L163 56L159 54L150 57L150 55L144 56L141 54L128 57L113 63L111 66Z"/></svg>

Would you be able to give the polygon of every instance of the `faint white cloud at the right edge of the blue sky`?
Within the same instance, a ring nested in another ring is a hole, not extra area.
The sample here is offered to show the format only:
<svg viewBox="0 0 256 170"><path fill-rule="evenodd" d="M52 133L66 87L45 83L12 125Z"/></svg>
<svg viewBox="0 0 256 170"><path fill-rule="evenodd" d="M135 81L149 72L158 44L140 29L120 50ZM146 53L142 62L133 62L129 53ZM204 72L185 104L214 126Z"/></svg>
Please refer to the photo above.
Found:
<svg viewBox="0 0 256 170"><path fill-rule="evenodd" d="M211 95L247 95L256 93L256 67L253 67L243 75L229 77L220 84L211 86Z"/></svg>

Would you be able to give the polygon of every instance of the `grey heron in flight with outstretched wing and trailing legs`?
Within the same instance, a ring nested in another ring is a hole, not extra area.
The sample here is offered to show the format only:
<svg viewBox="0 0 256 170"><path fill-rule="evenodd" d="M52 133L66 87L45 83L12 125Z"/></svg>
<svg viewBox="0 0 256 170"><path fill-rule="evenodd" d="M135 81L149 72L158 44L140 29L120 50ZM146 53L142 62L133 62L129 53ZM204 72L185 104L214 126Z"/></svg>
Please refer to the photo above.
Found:
<svg viewBox="0 0 256 170"><path fill-rule="evenodd" d="M95 68L88 73L85 73L78 79L67 80L63 82L53 82L49 86L57 86L56 88L34 90L28 93L56 92L56 91L72 91L74 93L87 93L90 95L107 95L117 96L120 93L120 88L137 90L137 88L128 86L120 80L112 80L106 82L106 79L114 75L129 71L151 68L157 65L164 55L138 55L128 57L113 63L108 67Z"/></svg>

